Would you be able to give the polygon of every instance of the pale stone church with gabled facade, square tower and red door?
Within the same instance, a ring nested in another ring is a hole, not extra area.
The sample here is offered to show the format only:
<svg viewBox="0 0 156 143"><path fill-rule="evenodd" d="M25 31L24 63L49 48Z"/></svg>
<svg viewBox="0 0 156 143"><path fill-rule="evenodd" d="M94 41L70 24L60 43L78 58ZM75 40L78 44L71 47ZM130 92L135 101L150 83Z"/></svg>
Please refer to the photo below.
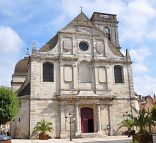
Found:
<svg viewBox="0 0 156 143"><path fill-rule="evenodd" d="M14 138L32 138L41 119L52 122L52 138L118 135L118 123L137 107L131 58L123 55L114 14L81 12L43 47L32 48L12 76L20 112Z"/></svg>

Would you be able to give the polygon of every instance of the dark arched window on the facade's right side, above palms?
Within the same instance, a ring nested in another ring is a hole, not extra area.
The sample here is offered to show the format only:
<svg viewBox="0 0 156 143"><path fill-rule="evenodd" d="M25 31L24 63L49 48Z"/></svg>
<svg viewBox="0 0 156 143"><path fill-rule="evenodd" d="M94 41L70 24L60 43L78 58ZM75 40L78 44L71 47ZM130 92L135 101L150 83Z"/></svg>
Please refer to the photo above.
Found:
<svg viewBox="0 0 156 143"><path fill-rule="evenodd" d="M122 66L119 66L119 65L114 66L114 77L115 77L115 83L124 82Z"/></svg>

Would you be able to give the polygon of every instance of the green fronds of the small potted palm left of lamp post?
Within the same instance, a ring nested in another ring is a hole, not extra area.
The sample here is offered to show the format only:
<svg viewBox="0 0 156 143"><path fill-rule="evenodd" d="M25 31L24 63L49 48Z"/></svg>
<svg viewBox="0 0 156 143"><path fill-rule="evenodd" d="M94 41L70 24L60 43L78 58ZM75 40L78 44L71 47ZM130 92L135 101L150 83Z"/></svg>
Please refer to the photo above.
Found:
<svg viewBox="0 0 156 143"><path fill-rule="evenodd" d="M40 122L37 122L36 126L34 127L35 133L46 133L46 132L52 132L52 123L45 121L42 119Z"/></svg>

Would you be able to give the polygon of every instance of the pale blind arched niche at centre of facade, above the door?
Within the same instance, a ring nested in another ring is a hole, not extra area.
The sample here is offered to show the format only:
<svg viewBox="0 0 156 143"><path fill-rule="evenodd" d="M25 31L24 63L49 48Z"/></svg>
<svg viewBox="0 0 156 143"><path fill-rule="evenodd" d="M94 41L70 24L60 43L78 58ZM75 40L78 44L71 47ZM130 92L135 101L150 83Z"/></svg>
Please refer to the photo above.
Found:
<svg viewBox="0 0 156 143"><path fill-rule="evenodd" d="M88 62L83 61L80 63L79 76L80 76L80 82L82 83L90 83L92 81L91 66Z"/></svg>

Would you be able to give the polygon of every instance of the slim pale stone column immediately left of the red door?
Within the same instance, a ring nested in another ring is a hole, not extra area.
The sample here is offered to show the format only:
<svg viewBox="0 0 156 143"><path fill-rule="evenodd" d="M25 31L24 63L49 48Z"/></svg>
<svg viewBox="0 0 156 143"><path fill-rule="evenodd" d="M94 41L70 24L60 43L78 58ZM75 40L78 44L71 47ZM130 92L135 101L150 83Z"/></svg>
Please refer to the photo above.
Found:
<svg viewBox="0 0 156 143"><path fill-rule="evenodd" d="M76 136L81 133L80 127L80 107L76 104Z"/></svg>

